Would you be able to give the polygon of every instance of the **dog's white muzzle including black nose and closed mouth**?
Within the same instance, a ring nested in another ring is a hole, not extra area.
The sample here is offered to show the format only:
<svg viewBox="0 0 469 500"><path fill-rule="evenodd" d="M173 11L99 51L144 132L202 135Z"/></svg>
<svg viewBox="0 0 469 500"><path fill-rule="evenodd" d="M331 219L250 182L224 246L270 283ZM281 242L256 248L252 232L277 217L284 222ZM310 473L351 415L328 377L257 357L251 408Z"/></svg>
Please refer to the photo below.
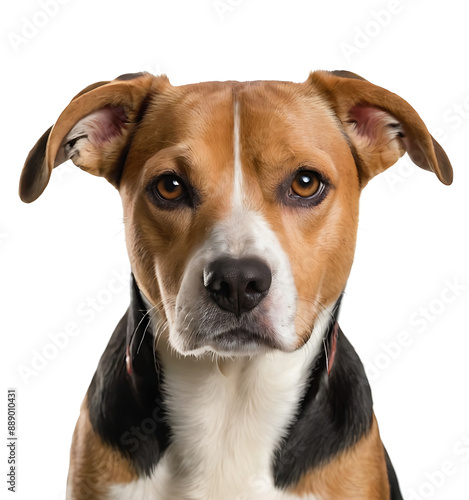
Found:
<svg viewBox="0 0 469 500"><path fill-rule="evenodd" d="M216 226L186 264L169 331L181 354L252 356L298 345L288 256L258 214L241 215Z"/></svg>

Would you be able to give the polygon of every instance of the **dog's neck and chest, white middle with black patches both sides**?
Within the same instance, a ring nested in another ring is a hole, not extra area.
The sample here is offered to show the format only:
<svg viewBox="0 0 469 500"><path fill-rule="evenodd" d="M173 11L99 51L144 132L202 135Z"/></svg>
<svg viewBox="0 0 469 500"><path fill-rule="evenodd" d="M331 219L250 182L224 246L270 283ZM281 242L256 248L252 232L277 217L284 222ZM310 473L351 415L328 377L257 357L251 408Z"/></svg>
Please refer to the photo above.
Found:
<svg viewBox="0 0 469 500"><path fill-rule="evenodd" d="M155 310L133 280L88 391L93 428L129 457L149 497L284 500L275 492L372 423L363 365L337 326L339 302L294 352L183 357L155 341Z"/></svg>

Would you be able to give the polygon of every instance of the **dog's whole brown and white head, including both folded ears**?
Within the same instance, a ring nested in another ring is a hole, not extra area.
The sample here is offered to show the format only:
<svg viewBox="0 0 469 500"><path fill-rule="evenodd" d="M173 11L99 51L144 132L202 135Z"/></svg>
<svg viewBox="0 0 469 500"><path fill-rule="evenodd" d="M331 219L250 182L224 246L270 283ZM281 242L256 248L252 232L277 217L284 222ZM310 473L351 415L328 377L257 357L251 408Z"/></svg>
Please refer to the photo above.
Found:
<svg viewBox="0 0 469 500"><path fill-rule="evenodd" d="M293 351L345 288L361 189L405 152L450 162L415 110L352 73L78 94L26 160L23 201L67 159L120 192L131 266L182 354Z"/></svg>

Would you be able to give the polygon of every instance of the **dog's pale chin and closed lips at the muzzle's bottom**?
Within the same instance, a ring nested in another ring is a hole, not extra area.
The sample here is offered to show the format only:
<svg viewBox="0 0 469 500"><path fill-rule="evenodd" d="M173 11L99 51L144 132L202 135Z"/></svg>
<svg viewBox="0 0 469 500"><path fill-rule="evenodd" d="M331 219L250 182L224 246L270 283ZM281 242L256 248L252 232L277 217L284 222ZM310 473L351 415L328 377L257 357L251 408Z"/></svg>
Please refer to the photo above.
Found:
<svg viewBox="0 0 469 500"><path fill-rule="evenodd" d="M212 335L195 334L191 342L176 346L184 356L252 357L272 350L286 349L273 336L244 328L233 328Z"/></svg>

